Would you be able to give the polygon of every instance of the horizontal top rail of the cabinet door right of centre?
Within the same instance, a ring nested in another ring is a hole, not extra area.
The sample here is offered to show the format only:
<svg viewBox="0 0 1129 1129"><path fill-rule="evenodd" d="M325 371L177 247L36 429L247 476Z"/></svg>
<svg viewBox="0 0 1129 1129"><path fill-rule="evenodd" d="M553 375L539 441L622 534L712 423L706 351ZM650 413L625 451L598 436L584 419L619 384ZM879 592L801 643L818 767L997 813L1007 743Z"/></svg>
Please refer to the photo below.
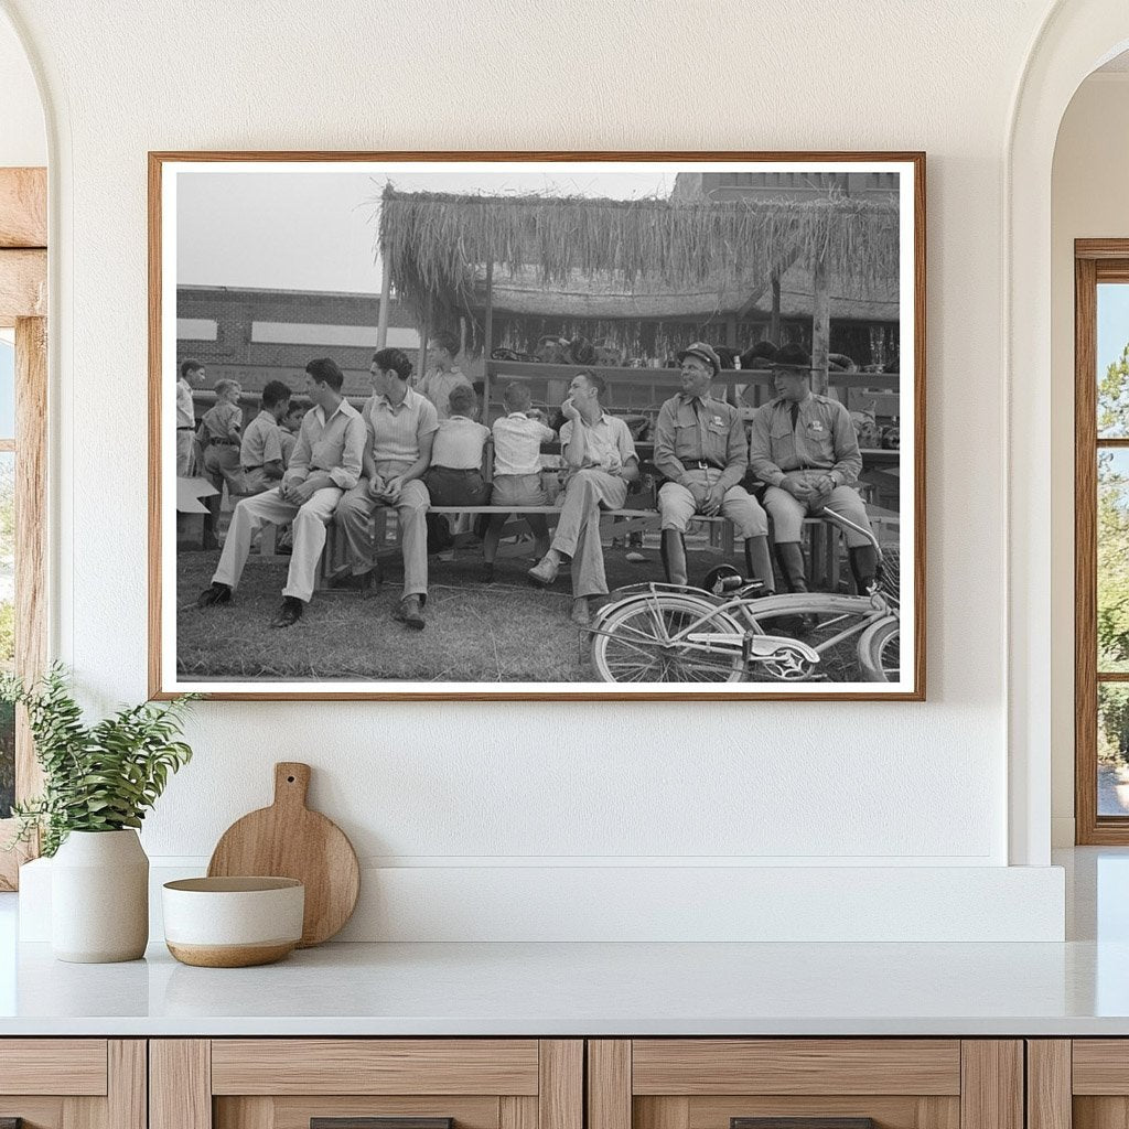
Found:
<svg viewBox="0 0 1129 1129"><path fill-rule="evenodd" d="M637 1039L639 1095L961 1093L956 1039Z"/></svg>

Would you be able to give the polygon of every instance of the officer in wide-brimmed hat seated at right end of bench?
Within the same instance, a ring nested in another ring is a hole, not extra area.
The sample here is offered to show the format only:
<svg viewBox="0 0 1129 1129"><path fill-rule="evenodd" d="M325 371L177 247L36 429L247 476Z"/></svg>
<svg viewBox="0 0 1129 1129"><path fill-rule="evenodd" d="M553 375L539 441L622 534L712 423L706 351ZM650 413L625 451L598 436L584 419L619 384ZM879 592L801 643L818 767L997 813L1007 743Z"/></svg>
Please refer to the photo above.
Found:
<svg viewBox="0 0 1129 1129"><path fill-rule="evenodd" d="M768 483L764 508L772 516L777 560L791 592L806 592L799 546L804 518L830 509L864 530L866 507L851 484L863 456L850 413L826 396L813 395L812 361L802 345L781 347L772 359L777 397L753 415L749 457L753 472ZM872 543L847 532L851 572L860 593L869 590L877 569Z"/></svg>

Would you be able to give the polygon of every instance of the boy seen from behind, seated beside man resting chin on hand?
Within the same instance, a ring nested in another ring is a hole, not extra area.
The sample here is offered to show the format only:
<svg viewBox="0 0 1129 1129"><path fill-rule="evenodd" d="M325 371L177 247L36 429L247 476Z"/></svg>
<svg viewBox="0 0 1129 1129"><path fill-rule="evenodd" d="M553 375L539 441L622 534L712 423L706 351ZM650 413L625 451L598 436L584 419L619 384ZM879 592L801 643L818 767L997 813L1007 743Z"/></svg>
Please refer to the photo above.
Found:
<svg viewBox="0 0 1129 1129"><path fill-rule="evenodd" d="M502 393L506 415L495 420L495 473L490 505L505 509L508 506L548 506L549 498L541 485L541 445L551 443L557 432L530 411L532 396L524 384L506 385ZM498 541L508 514L497 514L490 518L482 543L485 559L483 579L493 581L493 562L498 554ZM549 523L543 514L526 514L533 531L535 551L540 560L549 551Z"/></svg>

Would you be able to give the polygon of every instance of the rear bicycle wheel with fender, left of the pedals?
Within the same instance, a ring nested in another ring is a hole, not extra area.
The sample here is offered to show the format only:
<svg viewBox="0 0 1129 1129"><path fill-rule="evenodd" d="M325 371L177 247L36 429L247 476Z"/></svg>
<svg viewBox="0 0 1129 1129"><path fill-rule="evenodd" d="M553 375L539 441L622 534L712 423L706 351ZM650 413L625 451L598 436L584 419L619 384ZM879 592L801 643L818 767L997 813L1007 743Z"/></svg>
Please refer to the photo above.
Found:
<svg viewBox="0 0 1129 1129"><path fill-rule="evenodd" d="M592 636L592 664L604 682L741 682L739 654L672 641L691 629L733 639L745 633L708 601L659 593L627 599L601 618Z"/></svg>

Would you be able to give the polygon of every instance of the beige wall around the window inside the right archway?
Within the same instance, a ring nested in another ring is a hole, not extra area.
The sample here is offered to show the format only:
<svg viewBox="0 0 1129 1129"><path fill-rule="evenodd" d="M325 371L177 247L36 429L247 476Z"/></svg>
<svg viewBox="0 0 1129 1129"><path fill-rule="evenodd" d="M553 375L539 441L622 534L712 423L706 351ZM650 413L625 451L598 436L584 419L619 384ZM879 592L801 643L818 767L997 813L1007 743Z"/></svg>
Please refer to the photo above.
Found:
<svg viewBox="0 0 1129 1129"><path fill-rule="evenodd" d="M1074 240L1129 238L1129 72L1078 87L1059 130L1052 178L1051 443L1053 544L1052 814L1074 842Z"/></svg>

